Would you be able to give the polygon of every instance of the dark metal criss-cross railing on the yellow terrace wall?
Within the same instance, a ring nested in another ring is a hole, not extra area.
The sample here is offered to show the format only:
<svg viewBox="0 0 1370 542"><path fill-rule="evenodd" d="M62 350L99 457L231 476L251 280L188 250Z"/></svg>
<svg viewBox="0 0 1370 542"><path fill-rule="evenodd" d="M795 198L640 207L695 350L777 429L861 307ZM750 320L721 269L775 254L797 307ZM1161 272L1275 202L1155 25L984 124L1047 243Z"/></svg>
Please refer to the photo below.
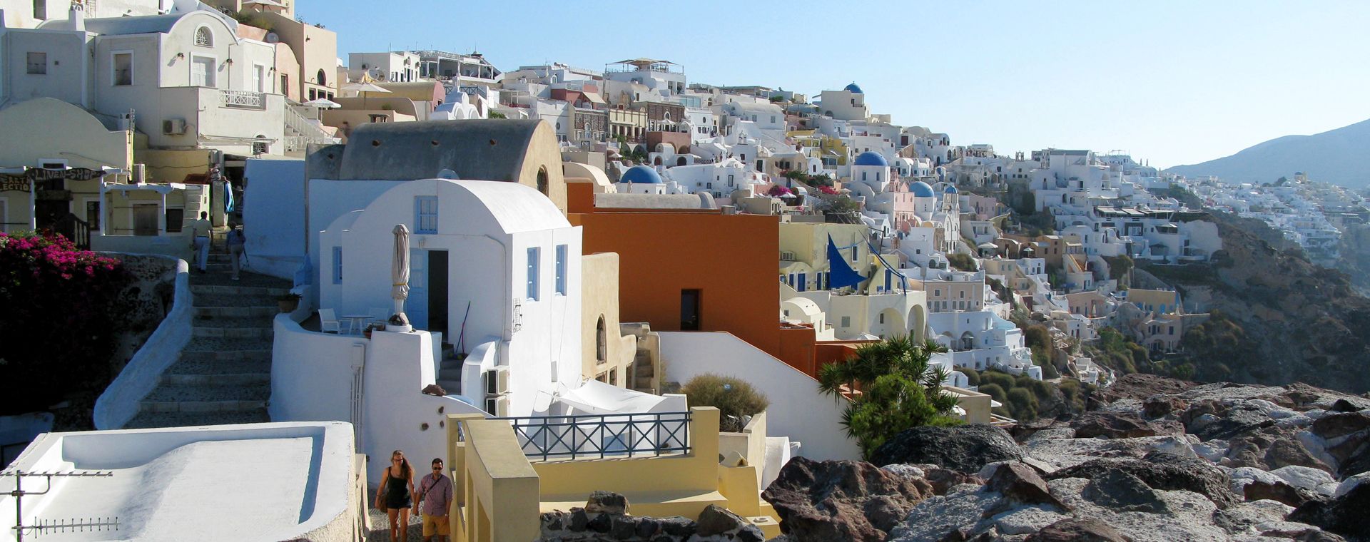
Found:
<svg viewBox="0 0 1370 542"><path fill-rule="evenodd" d="M510 422L530 460L662 456L690 449L689 412L497 419Z"/></svg>

